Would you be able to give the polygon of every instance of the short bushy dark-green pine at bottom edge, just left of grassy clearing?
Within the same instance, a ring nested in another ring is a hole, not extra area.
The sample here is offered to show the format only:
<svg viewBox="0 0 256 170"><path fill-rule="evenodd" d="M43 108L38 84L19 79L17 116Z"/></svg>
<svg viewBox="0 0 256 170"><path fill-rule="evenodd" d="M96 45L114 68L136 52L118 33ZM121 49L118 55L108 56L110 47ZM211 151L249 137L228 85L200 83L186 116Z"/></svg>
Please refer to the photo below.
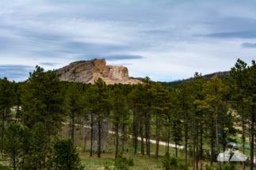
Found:
<svg viewBox="0 0 256 170"><path fill-rule="evenodd" d="M74 147L71 138L59 140L55 137L56 142L53 145L52 162L56 170L82 170L81 160L76 147Z"/></svg>

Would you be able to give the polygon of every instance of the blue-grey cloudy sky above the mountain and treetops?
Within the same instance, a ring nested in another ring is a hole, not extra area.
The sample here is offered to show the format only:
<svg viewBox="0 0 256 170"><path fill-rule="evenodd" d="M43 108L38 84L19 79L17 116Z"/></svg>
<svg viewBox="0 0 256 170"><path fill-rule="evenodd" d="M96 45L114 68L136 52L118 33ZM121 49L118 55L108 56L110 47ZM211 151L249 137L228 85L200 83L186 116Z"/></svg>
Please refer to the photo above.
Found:
<svg viewBox="0 0 256 170"><path fill-rule="evenodd" d="M174 81L256 59L254 0L1 0L0 78L105 59Z"/></svg>

